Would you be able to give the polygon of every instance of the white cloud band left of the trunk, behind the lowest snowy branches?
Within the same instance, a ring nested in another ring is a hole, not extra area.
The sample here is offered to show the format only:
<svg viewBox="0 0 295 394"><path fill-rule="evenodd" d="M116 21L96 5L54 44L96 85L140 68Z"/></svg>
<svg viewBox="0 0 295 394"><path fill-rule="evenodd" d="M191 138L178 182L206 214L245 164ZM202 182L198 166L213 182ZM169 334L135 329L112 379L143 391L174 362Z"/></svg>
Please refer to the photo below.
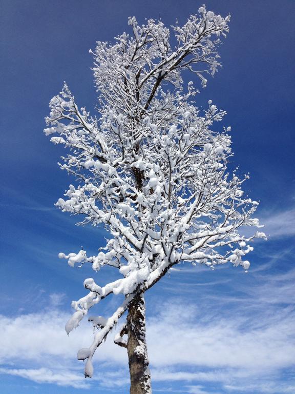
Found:
<svg viewBox="0 0 295 394"><path fill-rule="evenodd" d="M0 362L41 362L48 366L74 361L78 349L90 345L93 330L87 322L83 322L67 337L64 327L69 317L68 313L56 309L17 317L0 315ZM103 351L99 352L99 361L124 363L126 358L120 351L123 349L118 348L118 352L115 349L116 345L105 344ZM80 367L82 370L82 365Z"/></svg>

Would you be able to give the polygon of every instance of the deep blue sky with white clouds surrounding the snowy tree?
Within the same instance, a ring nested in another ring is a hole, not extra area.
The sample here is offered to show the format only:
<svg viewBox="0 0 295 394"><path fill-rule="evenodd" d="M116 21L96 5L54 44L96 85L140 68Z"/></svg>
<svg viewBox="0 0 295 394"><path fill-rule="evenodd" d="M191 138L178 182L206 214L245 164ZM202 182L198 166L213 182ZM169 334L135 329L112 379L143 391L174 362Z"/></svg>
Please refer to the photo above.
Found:
<svg viewBox="0 0 295 394"><path fill-rule="evenodd" d="M64 152L43 134L48 103L66 81L80 106L94 113L89 49L128 29L128 16L172 25L201 3L183 0L4 0L1 29L0 391L117 394L128 392L125 349L108 340L97 351L93 379L76 361L91 343L87 323L67 337L70 303L85 294L90 269L72 269L60 251L89 254L102 229L75 226L54 203L73 182L58 169ZM223 68L201 89L227 110L234 165L250 172L245 189L260 200L267 242L251 253L251 269L182 266L146 294L147 345L154 392L190 394L295 392L292 0L207 1L231 13L220 48ZM96 282L115 279L101 270ZM116 299L95 314L108 316ZM93 391L94 392L94 391Z"/></svg>

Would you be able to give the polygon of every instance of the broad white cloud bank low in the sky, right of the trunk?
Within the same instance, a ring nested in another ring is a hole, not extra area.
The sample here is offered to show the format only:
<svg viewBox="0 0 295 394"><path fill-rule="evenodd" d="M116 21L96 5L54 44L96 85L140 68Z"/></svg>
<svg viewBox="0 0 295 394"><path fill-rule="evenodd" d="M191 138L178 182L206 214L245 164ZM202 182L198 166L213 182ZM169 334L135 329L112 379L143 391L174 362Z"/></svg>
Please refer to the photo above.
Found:
<svg viewBox="0 0 295 394"><path fill-rule="evenodd" d="M150 358L157 367L189 364L265 370L293 363L294 314L277 311L276 319L271 316L261 325L261 321L249 324L248 317L229 320L228 316L196 313L192 318L184 305L165 305L164 309L147 326Z"/></svg>

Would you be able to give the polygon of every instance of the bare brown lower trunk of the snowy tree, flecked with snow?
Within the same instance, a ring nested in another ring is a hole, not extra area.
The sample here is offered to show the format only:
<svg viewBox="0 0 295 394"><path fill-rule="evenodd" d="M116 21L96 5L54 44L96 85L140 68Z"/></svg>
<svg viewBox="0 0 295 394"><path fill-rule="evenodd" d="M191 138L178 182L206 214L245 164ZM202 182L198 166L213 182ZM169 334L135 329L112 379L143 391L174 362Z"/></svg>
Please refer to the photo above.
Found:
<svg viewBox="0 0 295 394"><path fill-rule="evenodd" d="M151 374L145 341L145 303L143 294L135 297L127 316L130 394L151 394Z"/></svg>

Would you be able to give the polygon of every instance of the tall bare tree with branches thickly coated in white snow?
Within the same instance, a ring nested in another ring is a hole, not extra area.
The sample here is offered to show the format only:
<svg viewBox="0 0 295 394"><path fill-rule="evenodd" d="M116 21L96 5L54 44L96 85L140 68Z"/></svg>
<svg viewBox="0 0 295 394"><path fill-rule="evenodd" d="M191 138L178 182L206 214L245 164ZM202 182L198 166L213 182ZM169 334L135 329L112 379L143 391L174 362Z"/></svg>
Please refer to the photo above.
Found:
<svg viewBox="0 0 295 394"><path fill-rule="evenodd" d="M127 348L132 394L151 392L144 292L177 264L213 268L230 262L247 270L249 242L264 237L240 231L259 227L251 217L258 203L243 194L248 175L240 179L228 169L230 127L215 126L225 111L211 101L200 111L193 82L184 86L182 80L191 71L205 87L206 76L220 67L217 48L228 22L229 16L203 6L185 25L172 27L171 39L161 21L139 25L129 18L130 33L114 44L98 42L93 53L99 115L80 108L66 84L50 101L45 133L69 149L59 165L78 181L56 205L111 234L97 255L80 250L59 257L72 267L90 263L97 272L109 265L122 275L104 286L86 279L89 292L73 301L66 331L109 294L123 294L109 317L89 317L97 330L78 359L86 360L91 377L94 352L127 312L115 343Z"/></svg>

